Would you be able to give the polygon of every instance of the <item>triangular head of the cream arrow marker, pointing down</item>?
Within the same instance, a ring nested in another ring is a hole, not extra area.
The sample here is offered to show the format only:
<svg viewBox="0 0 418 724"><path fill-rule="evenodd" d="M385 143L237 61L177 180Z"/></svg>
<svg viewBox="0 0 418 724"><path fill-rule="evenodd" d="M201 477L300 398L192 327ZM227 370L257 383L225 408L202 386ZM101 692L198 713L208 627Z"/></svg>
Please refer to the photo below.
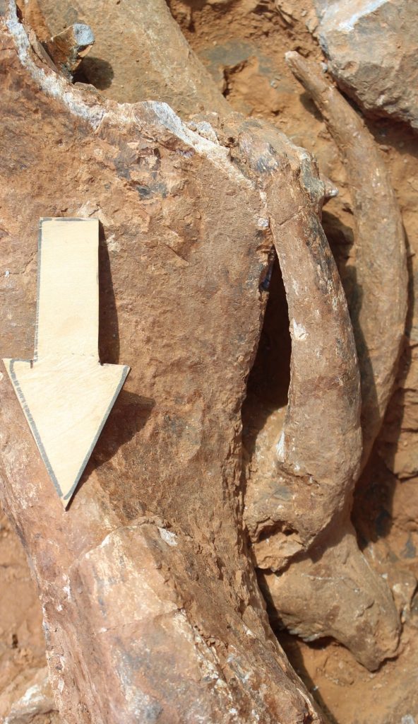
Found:
<svg viewBox="0 0 418 724"><path fill-rule="evenodd" d="M4 359L61 503L69 505L129 367L93 358Z"/></svg>

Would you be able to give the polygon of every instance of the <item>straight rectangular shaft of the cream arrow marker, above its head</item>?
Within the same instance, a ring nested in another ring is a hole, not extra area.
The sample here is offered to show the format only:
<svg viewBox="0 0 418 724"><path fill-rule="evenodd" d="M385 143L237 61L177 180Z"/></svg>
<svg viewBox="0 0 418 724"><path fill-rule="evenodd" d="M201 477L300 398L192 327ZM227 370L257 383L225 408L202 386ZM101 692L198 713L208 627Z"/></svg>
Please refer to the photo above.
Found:
<svg viewBox="0 0 418 724"><path fill-rule="evenodd" d="M98 221L41 219L35 358L98 358Z"/></svg>

